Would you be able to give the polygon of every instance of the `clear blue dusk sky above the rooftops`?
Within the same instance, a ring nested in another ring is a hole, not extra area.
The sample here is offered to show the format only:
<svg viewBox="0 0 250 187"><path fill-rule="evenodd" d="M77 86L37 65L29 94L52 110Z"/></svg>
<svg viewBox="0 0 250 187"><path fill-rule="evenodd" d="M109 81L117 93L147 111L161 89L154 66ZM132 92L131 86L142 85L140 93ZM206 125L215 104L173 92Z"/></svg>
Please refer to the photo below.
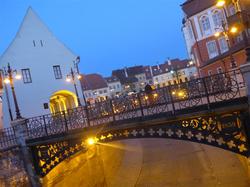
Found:
<svg viewBox="0 0 250 187"><path fill-rule="evenodd" d="M81 57L83 73L109 76L134 65L186 58L181 32L184 0L0 0L0 54L31 6Z"/></svg>

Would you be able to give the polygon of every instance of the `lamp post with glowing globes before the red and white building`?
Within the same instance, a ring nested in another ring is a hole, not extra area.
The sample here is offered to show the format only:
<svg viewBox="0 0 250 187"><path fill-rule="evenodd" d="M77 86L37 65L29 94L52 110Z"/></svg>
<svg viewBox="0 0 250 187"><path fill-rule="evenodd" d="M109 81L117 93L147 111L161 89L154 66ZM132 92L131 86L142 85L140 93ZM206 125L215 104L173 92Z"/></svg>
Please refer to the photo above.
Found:
<svg viewBox="0 0 250 187"><path fill-rule="evenodd" d="M219 7L219 8L222 8L223 13L226 16L226 20L227 20L228 15L227 15L227 11L225 10L225 4L226 4L225 0L218 0L216 6ZM214 36L219 37L221 35L221 33L223 34L223 36L225 37L225 40L227 42L228 49L229 49L231 67L236 68L235 59L233 57L232 51L230 50L232 48L232 46L231 46L231 43L230 43L229 35L237 33L238 28L237 27L232 27L231 29L228 29L228 25L226 24L226 22L223 19L221 21L221 28L222 28L222 32L216 32L214 34ZM225 66L225 68L226 68L226 66ZM226 71L226 69L225 69L225 71Z"/></svg>

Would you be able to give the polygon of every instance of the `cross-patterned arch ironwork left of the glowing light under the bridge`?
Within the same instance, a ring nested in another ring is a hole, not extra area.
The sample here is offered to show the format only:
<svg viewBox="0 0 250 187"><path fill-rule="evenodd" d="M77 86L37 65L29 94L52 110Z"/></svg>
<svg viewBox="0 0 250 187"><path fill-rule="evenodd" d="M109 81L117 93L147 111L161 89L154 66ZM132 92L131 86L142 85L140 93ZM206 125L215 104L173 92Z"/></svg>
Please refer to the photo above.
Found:
<svg viewBox="0 0 250 187"><path fill-rule="evenodd" d="M80 139L33 146L37 174L45 176L64 159L82 150L86 150L85 142Z"/></svg>

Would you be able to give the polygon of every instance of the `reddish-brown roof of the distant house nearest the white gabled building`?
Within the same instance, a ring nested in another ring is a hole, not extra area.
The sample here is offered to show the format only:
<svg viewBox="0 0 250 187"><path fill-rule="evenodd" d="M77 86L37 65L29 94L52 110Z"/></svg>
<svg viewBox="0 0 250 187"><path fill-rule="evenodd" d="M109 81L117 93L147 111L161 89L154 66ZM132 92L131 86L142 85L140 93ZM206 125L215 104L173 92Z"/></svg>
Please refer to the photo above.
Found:
<svg viewBox="0 0 250 187"><path fill-rule="evenodd" d="M96 90L108 86L105 79L99 74L82 75L80 81L84 90Z"/></svg>

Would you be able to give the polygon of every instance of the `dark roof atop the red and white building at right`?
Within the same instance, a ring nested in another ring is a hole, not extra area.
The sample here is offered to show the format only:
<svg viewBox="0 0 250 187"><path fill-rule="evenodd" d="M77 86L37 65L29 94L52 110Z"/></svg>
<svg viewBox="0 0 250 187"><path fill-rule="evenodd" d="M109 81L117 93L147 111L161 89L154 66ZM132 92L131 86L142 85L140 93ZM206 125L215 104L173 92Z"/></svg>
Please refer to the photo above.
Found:
<svg viewBox="0 0 250 187"><path fill-rule="evenodd" d="M187 0L181 7L187 17L191 17L216 4L217 0Z"/></svg>

